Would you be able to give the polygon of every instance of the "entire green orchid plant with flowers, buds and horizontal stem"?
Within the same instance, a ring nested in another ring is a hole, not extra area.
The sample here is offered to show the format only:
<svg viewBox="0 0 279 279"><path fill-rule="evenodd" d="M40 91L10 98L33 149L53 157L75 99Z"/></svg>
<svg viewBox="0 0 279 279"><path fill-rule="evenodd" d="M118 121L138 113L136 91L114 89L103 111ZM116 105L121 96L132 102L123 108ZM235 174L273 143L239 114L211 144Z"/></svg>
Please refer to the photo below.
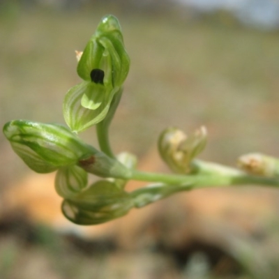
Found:
<svg viewBox="0 0 279 279"><path fill-rule="evenodd" d="M3 133L22 160L34 171L56 173L56 192L63 197L63 214L73 223L93 225L126 215L185 190L210 186L257 184L279 186L278 160L262 154L239 159L241 169L197 160L206 145L206 128L187 136L167 128L158 140L160 156L174 174L140 172L130 153L114 154L109 128L128 75L130 59L116 17L103 17L84 52L77 52L82 82L71 88L63 102L69 128L61 124L15 120ZM100 150L77 133L96 126ZM88 174L102 179L89 185ZM151 182L128 193L130 180Z"/></svg>

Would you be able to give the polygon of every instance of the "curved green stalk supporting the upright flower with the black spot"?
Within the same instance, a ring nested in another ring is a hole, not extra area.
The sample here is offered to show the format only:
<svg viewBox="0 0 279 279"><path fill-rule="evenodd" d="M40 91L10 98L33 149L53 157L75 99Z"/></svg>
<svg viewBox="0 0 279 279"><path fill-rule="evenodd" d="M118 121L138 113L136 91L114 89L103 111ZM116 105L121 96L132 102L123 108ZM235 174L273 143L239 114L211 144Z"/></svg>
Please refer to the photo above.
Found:
<svg viewBox="0 0 279 279"><path fill-rule="evenodd" d="M105 116L105 119L103 121L100 121L100 123L96 125L100 150L111 158L115 158L115 156L110 146L109 128L110 123L112 122L113 116L121 100L122 91L123 89L121 88L114 94L112 103L110 105L110 110L107 113L107 116Z"/></svg>

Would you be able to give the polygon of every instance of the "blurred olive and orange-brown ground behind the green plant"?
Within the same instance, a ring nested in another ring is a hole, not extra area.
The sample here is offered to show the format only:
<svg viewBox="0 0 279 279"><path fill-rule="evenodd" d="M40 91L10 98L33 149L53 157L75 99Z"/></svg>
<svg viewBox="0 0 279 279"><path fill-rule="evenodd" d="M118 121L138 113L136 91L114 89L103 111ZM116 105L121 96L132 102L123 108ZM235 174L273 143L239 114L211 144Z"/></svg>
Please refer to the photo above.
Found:
<svg viewBox="0 0 279 279"><path fill-rule="evenodd" d="M64 123L100 18L119 18L130 73L111 128L114 150L168 172L159 133L205 125L200 156L279 156L276 0L1 0L0 123ZM96 146L93 129L81 134ZM54 174L31 172L0 135L1 279L279 277L279 191L246 186L181 193L105 225L61 216ZM130 183L129 189L142 186Z"/></svg>

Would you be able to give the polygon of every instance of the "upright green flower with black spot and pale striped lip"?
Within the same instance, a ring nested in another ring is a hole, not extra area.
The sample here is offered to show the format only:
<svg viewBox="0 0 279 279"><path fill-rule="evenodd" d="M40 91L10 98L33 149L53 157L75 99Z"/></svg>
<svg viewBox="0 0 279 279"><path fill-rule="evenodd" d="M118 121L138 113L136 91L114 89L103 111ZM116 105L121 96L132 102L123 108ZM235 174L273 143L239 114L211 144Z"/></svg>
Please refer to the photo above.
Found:
<svg viewBox="0 0 279 279"><path fill-rule="evenodd" d="M116 17L103 17L84 52L77 53L77 74L83 81L66 94L63 114L71 130L79 133L105 118L128 75L130 59Z"/></svg>

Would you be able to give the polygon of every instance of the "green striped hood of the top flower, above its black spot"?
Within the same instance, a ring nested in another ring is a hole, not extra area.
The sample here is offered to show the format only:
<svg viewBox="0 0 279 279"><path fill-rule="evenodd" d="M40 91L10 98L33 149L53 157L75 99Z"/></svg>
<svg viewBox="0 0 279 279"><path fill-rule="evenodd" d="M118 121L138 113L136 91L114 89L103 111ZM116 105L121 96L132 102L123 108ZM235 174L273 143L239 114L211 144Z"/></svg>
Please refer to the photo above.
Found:
<svg viewBox="0 0 279 279"><path fill-rule="evenodd" d="M91 71L103 70L105 86L120 87L128 75L130 58L125 50L121 27L113 15L103 17L77 64L77 74L91 80Z"/></svg>

